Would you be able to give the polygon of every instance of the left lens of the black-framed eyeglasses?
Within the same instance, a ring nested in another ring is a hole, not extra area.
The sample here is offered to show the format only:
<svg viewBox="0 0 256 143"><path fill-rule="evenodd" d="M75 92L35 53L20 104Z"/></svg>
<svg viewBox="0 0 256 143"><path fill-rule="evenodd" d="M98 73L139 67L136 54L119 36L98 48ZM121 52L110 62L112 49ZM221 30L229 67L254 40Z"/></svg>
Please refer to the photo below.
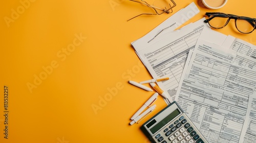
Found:
<svg viewBox="0 0 256 143"><path fill-rule="evenodd" d="M209 18L209 25L213 28L223 28L225 27L226 23L228 22L228 15L225 14L217 14L217 15L211 15Z"/></svg>

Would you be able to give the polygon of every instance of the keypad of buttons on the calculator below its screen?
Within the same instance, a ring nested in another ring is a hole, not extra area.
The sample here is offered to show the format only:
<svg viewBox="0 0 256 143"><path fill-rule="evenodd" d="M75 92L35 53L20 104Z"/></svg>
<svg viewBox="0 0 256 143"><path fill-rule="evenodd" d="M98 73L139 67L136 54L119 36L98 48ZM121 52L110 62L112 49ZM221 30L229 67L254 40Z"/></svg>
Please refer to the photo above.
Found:
<svg viewBox="0 0 256 143"><path fill-rule="evenodd" d="M163 137L164 135L165 137ZM169 124L167 128L163 129L163 136L160 133L157 134L155 138L160 143L204 143L194 128L191 127L189 123L187 123L187 120L184 118L184 116L181 116L179 120L174 121L173 123ZM164 140L164 138L168 139Z"/></svg>

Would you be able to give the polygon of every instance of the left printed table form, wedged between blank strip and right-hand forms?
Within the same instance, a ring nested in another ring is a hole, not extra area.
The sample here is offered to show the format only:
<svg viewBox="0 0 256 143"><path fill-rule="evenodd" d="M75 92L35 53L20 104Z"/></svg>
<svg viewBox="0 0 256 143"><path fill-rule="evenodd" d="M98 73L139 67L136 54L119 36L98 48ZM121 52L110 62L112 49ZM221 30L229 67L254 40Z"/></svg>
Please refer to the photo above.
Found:
<svg viewBox="0 0 256 143"><path fill-rule="evenodd" d="M172 32L172 35L144 50L136 51L153 78L170 77L169 80L158 82L160 88L169 95L167 104L176 96L189 49L194 48L201 31L206 27L203 20Z"/></svg>

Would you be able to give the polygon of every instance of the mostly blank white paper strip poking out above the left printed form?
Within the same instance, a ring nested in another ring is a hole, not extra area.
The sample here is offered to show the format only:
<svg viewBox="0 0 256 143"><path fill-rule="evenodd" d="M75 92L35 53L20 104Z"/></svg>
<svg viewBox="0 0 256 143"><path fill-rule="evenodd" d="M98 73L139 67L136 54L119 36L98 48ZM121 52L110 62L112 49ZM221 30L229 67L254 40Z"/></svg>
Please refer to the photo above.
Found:
<svg viewBox="0 0 256 143"><path fill-rule="evenodd" d="M168 19L163 21L159 26L157 26L155 29L153 29L152 31L150 31L140 39L133 41L132 45L134 49L136 51L143 50L145 47L157 41L156 39L152 40L156 35L157 37L159 37L163 34L174 31L176 28L181 26L184 22L186 22L187 20L189 20L191 17L195 16L199 12L200 11L194 2L189 4L187 7L179 10L178 12L170 16ZM148 42L150 40L152 41Z"/></svg>

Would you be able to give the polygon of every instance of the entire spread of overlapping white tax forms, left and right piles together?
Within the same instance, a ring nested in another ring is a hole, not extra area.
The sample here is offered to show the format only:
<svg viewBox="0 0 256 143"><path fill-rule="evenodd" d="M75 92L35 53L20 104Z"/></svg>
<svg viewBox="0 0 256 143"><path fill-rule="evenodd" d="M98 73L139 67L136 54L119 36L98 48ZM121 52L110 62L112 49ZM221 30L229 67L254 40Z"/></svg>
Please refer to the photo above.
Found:
<svg viewBox="0 0 256 143"><path fill-rule="evenodd" d="M193 5L183 10L196 14ZM132 45L153 78L170 77L157 82L168 93L166 104L177 101L209 142L255 142L256 46L203 20L178 30L158 27Z"/></svg>

